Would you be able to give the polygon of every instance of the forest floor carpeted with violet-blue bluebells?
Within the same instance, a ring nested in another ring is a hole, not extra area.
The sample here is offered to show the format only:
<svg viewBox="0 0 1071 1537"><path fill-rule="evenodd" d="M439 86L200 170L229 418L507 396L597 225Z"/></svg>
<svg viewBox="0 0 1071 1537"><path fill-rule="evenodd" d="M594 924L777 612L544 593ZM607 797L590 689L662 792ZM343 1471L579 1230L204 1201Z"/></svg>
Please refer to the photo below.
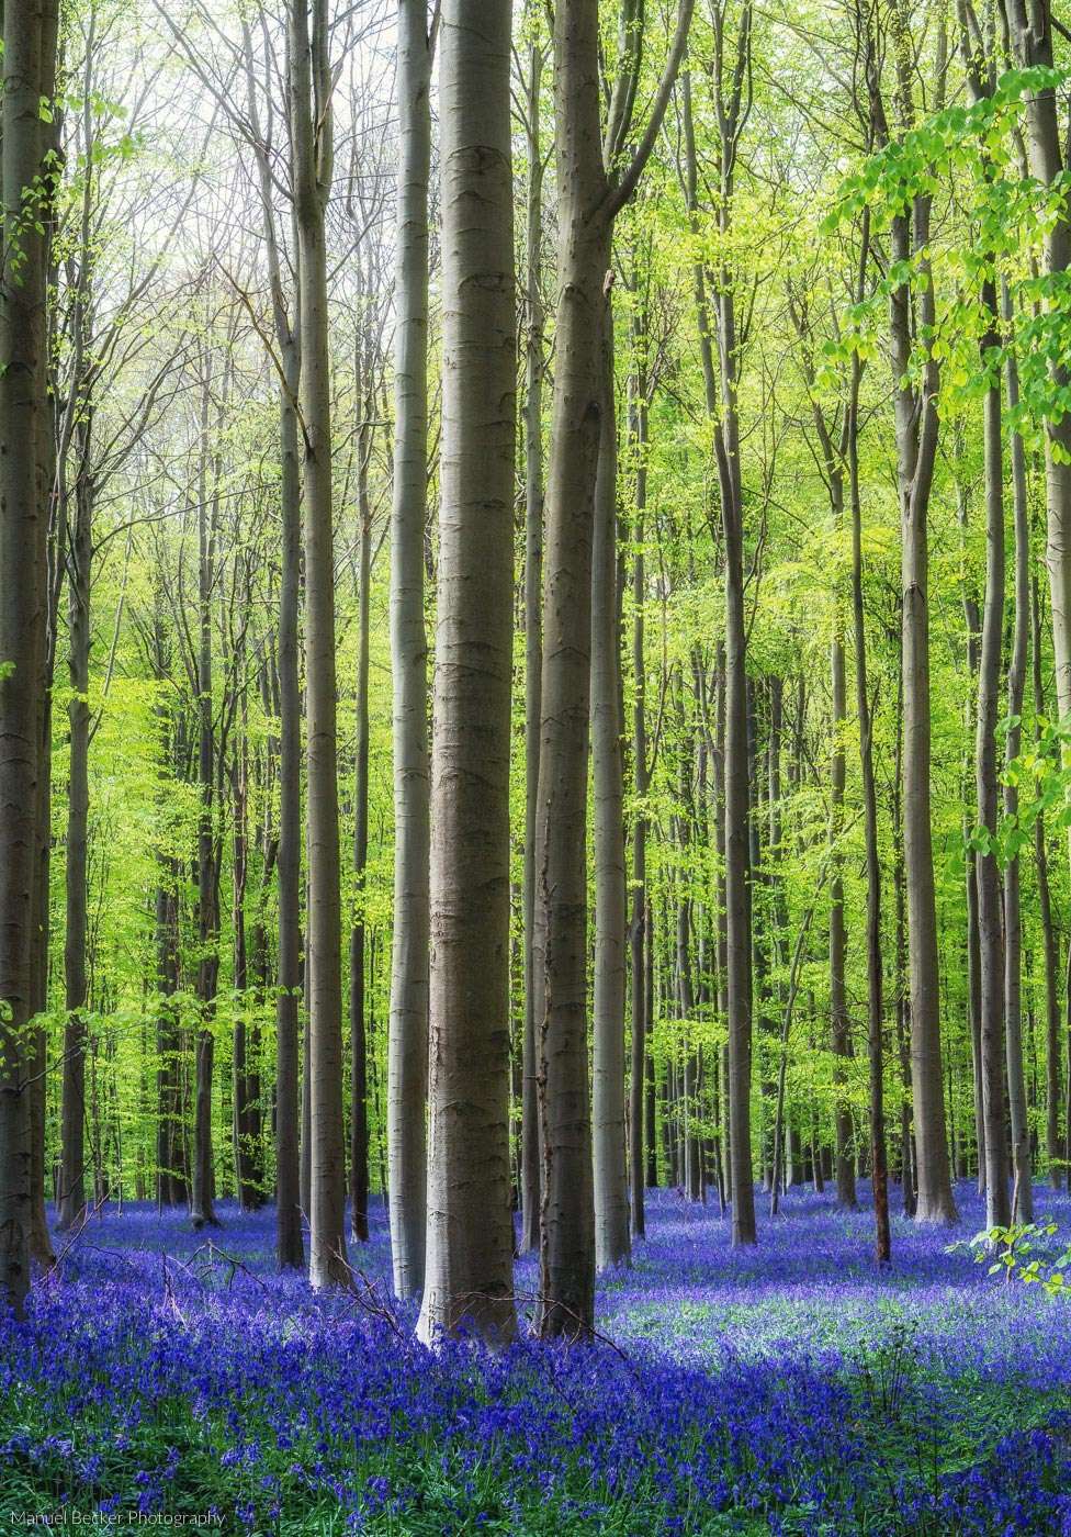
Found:
<svg viewBox="0 0 1071 1537"><path fill-rule="evenodd" d="M275 1273L269 1208L109 1210L0 1322L0 1529L1066 1537L1071 1303L950 1251L982 1227L957 1194L959 1233L897 1217L879 1271L828 1194L734 1253L653 1193L604 1339L495 1356L413 1342L381 1205L346 1299ZM1071 1231L1066 1196L1039 1213Z"/></svg>

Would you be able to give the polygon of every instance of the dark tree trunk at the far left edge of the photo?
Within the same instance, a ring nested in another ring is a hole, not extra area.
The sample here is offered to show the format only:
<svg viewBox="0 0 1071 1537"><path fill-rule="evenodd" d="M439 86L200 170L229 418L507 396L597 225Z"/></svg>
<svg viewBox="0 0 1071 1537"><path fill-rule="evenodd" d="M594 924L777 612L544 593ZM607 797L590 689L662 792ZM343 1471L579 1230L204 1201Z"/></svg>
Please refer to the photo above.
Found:
<svg viewBox="0 0 1071 1537"><path fill-rule="evenodd" d="M25 221L45 134L40 103L55 77L57 12L51 3L3 11L0 191L5 249L18 249L0 281L0 1293L22 1316L29 1290L32 1227L31 1097L22 1033L32 1010L34 850L37 847L41 669L46 629L45 241ZM43 209L32 204L37 217Z"/></svg>

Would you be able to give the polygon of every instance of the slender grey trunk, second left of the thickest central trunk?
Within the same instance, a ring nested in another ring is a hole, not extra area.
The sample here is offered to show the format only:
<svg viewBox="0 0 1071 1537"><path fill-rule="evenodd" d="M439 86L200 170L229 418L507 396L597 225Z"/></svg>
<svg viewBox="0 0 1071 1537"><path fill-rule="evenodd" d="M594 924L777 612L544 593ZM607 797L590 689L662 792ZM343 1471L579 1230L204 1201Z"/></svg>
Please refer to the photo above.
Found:
<svg viewBox="0 0 1071 1537"><path fill-rule="evenodd" d="M324 212L333 89L327 0L290 0L290 117L298 224L304 426L307 1008L310 1090L309 1280L349 1285L343 1122L330 347Z"/></svg>

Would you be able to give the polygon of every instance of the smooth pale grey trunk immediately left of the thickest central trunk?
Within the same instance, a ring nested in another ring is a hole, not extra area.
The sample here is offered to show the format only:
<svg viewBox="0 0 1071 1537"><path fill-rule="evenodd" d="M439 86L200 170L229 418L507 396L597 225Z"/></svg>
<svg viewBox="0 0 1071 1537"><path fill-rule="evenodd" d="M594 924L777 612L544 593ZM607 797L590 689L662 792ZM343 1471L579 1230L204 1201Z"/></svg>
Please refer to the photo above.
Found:
<svg viewBox="0 0 1071 1537"><path fill-rule="evenodd" d="M429 756L424 524L427 518L427 188L432 46L426 0L400 0L395 483L390 515L395 918L387 1033L390 1254L400 1297L424 1286L427 1227Z"/></svg>

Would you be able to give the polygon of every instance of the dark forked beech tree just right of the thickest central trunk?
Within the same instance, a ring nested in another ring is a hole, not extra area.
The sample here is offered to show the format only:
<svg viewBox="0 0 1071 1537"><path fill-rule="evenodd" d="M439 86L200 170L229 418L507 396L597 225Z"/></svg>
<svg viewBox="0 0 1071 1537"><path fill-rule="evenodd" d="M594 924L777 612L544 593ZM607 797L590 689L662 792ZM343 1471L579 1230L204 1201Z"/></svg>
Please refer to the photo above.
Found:
<svg viewBox="0 0 1071 1537"><path fill-rule="evenodd" d="M604 367L604 284L613 221L636 189L684 55L691 0L681 0L647 123L628 152L642 55L639 8L621 12L618 74L601 121L596 0L555 9L558 315L547 466L542 599L538 899L542 1219L539 1331L590 1333L595 1205L587 1071L587 732L592 544ZM636 1170L633 1170L633 1179Z"/></svg>

